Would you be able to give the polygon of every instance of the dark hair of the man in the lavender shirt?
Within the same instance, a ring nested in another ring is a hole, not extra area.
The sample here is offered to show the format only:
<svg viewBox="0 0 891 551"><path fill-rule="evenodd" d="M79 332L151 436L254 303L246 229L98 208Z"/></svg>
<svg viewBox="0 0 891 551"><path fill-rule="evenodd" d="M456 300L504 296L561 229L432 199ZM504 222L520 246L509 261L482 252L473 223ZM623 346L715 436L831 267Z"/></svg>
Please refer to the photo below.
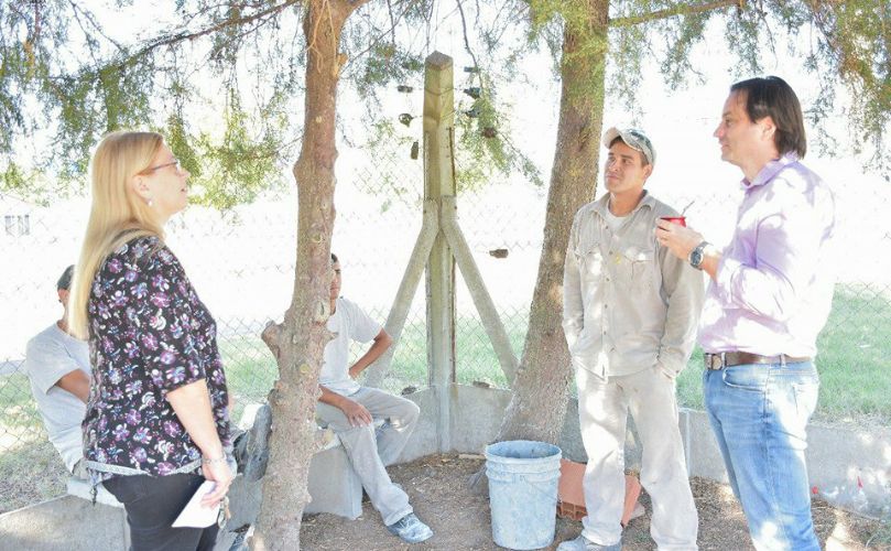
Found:
<svg viewBox="0 0 891 551"><path fill-rule="evenodd" d="M746 112L752 122L770 117L776 125L773 142L780 154L794 151L804 159L807 137L804 132L804 115L798 97L779 76L749 78L730 86L730 91L746 93Z"/></svg>

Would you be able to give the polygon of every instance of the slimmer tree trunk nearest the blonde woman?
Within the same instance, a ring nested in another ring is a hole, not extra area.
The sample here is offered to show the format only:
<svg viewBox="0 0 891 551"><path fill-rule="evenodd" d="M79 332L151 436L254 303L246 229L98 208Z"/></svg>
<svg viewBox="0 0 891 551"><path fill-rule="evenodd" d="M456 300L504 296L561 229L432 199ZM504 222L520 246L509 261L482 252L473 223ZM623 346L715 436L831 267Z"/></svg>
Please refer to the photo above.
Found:
<svg viewBox="0 0 891 551"><path fill-rule="evenodd" d="M344 23L362 3L311 0L303 20L307 44L305 127L293 171L298 205L297 260L284 322L263 331L263 341L279 365L279 380L269 393L270 456L263 505L251 539L253 549L300 549L301 517L308 501L306 478L317 447L318 372L330 339L325 323L330 315L335 116L337 82L346 58L338 46Z"/></svg>

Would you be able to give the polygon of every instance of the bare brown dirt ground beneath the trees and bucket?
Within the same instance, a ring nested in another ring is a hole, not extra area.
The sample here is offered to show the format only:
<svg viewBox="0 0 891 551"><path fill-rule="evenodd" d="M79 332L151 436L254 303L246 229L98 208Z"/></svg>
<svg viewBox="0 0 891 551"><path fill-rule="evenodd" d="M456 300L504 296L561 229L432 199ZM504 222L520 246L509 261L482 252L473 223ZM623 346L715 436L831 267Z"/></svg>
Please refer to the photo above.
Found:
<svg viewBox="0 0 891 551"><path fill-rule="evenodd" d="M435 532L432 539L411 549L502 549L492 541L488 495L467 487L468 477L482 464L481 458L430 455L389 469L393 480L409 493L417 516ZM742 510L730 488L703 478L693 478L691 485L699 511L699 549L753 549ZM641 503L646 514L629 523L622 536L623 551L655 549L649 533L651 507L645 493L641 495ZM827 551L891 550L887 525L834 509L821 500L814 501L813 515L821 544ZM580 531L580 522L558 518L556 537L548 549L555 549L557 543L575 538ZM357 520L325 514L305 516L301 547L308 551L410 549L387 531L380 515L367 499Z"/></svg>

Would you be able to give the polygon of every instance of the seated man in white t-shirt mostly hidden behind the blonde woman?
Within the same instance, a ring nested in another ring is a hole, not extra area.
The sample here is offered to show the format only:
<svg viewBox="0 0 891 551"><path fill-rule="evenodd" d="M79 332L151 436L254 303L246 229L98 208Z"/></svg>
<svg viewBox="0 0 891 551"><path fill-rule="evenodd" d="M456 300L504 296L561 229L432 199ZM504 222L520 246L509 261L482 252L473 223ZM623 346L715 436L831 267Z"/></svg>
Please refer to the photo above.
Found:
<svg viewBox="0 0 891 551"><path fill-rule="evenodd" d="M78 478L88 478L83 465L80 421L89 398L89 350L86 341L67 332L73 270L74 266L66 268L56 283L62 318L29 341L24 369L50 442L62 455L68 472Z"/></svg>

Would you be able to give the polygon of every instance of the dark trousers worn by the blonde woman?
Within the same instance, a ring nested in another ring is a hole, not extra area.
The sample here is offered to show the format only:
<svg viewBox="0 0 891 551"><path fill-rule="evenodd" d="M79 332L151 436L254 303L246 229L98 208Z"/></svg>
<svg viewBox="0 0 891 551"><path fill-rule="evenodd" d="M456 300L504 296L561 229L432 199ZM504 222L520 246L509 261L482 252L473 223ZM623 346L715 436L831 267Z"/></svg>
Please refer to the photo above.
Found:
<svg viewBox="0 0 891 551"><path fill-rule="evenodd" d="M213 550L219 527L171 528L197 491L204 477L191 474L170 476L115 476L102 483L127 511L131 551Z"/></svg>

